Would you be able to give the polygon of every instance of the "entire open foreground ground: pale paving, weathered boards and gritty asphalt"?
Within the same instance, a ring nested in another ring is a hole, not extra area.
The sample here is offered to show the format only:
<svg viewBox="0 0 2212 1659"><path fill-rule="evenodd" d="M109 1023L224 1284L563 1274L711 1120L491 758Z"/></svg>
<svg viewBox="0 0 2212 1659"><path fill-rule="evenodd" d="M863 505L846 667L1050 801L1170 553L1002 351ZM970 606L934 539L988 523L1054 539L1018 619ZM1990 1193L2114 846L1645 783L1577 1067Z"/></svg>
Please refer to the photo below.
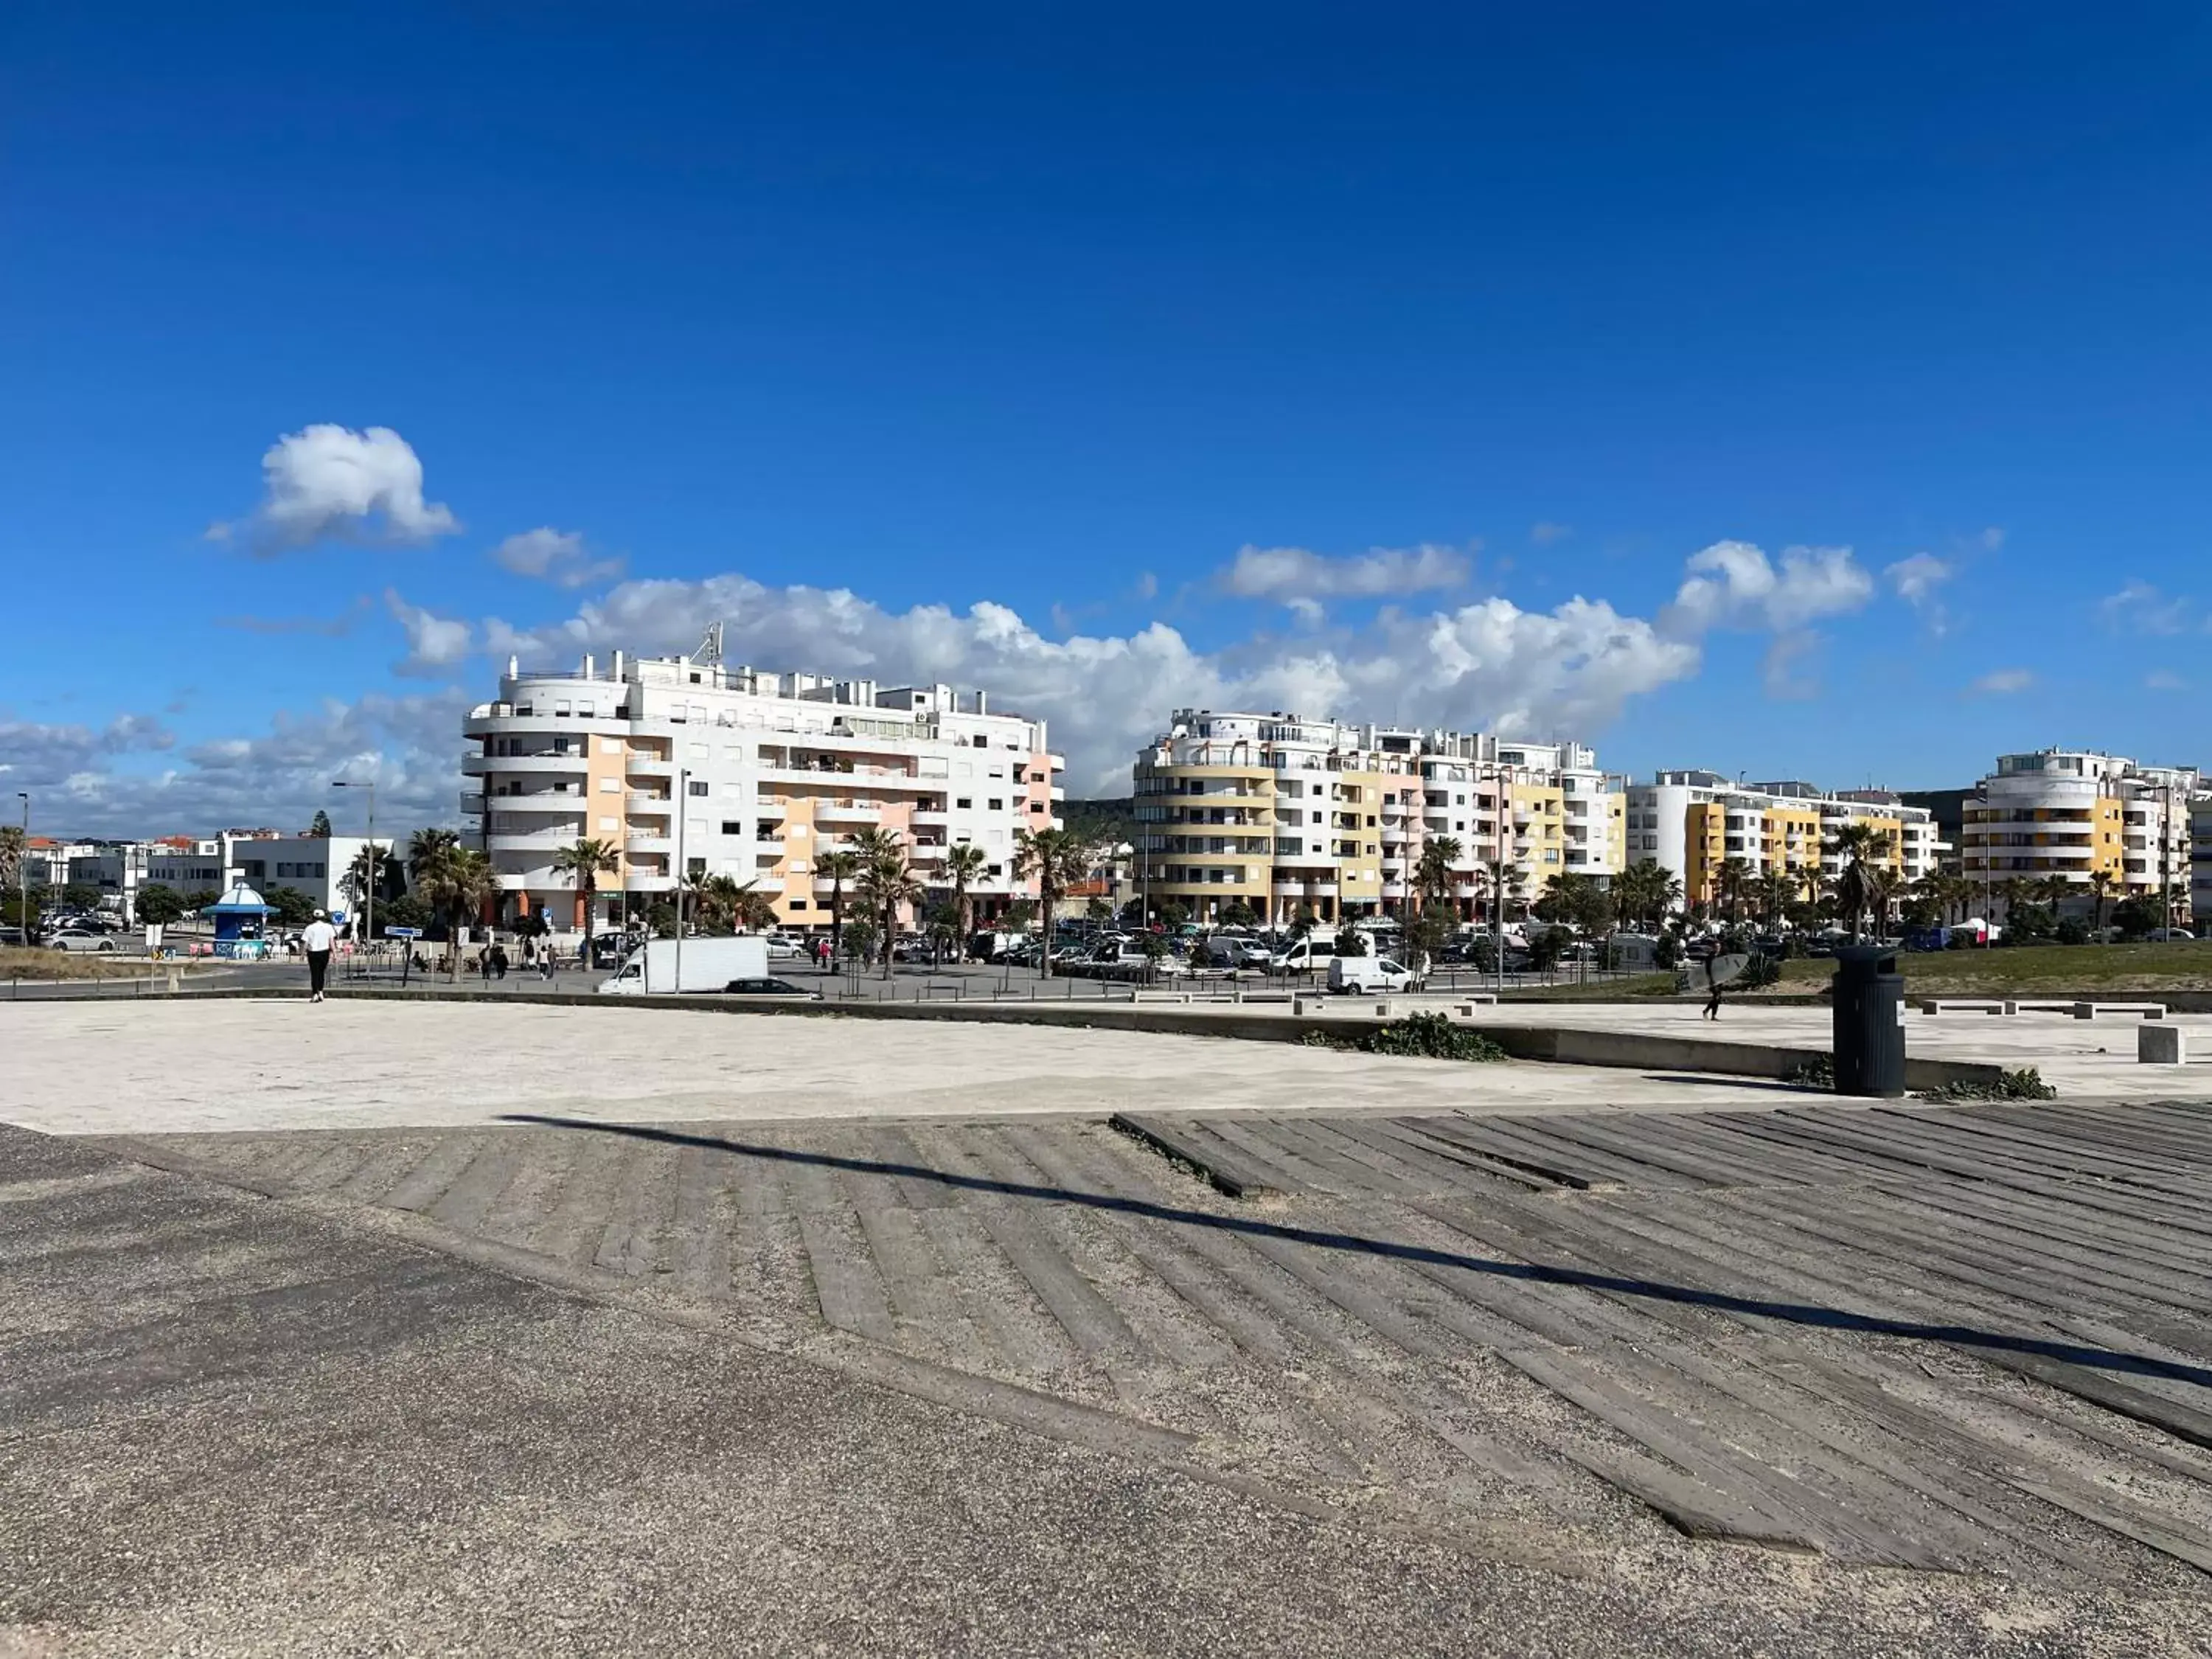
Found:
<svg viewBox="0 0 2212 1659"><path fill-rule="evenodd" d="M9 1659L2212 1626L2188 1102L164 1000L0 1009L0 1117Z"/></svg>

